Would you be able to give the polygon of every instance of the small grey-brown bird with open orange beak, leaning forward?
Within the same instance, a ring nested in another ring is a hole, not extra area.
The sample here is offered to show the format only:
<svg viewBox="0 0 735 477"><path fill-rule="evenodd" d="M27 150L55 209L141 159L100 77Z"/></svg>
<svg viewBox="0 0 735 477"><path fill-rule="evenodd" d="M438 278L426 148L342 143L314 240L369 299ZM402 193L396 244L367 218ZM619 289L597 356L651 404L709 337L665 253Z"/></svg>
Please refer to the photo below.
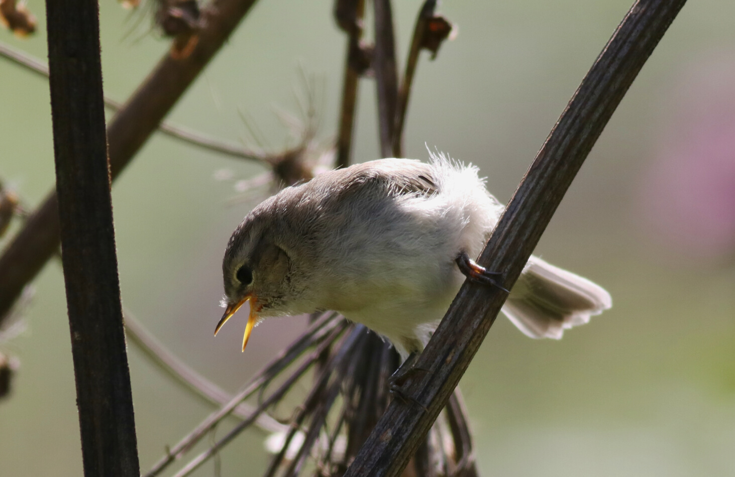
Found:
<svg viewBox="0 0 735 477"><path fill-rule="evenodd" d="M442 154L430 163L378 159L287 187L230 237L226 311L215 334L245 301L243 351L263 318L331 309L390 340L406 359L423 351L467 276L503 287L501 273L470 259L503 208L477 168ZM559 339L610 306L597 284L531 257L503 313L529 337Z"/></svg>

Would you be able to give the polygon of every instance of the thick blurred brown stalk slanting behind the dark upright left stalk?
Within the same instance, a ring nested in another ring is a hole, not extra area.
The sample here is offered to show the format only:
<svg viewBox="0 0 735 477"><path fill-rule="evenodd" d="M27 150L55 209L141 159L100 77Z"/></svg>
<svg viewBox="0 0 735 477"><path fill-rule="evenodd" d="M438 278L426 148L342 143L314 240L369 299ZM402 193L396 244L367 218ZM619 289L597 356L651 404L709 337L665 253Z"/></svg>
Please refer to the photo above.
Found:
<svg viewBox="0 0 735 477"><path fill-rule="evenodd" d="M217 0L202 10L204 27L190 55L166 54L107 127L112 179L135 157L176 101L219 51L255 0ZM46 265L59 245L56 193L26 220L0 257L0 322L23 287Z"/></svg>

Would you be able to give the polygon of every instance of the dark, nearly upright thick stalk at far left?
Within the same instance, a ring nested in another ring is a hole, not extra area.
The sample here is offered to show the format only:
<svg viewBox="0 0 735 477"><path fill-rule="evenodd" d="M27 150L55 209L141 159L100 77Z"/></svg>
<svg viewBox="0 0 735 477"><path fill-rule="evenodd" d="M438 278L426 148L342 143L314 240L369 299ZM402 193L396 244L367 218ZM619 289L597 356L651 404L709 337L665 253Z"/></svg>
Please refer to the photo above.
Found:
<svg viewBox="0 0 735 477"><path fill-rule="evenodd" d="M49 0L62 263L86 477L138 477L102 101L98 7Z"/></svg>

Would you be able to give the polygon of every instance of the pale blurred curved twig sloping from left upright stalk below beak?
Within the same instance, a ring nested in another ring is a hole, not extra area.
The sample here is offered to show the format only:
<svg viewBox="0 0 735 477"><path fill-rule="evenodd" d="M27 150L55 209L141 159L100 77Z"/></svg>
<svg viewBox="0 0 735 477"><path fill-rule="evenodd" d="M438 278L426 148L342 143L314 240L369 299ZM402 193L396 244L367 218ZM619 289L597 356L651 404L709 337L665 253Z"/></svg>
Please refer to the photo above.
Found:
<svg viewBox="0 0 735 477"><path fill-rule="evenodd" d="M181 384L185 390L190 391L207 404L215 406L224 406L232 401L232 395L223 390L217 384L209 379L201 376L192 368L188 367L176 355L168 351L164 345L153 336L138 321L132 313L123 307L123 317L125 319L125 331L129 341L137 346L143 354L151 360L151 362L159 367L160 370L171 376L177 383ZM253 406L247 403L239 404L232 414L237 417L248 417L254 411ZM257 426L268 432L282 432L286 426L279 423L269 415L261 415L256 421Z"/></svg>

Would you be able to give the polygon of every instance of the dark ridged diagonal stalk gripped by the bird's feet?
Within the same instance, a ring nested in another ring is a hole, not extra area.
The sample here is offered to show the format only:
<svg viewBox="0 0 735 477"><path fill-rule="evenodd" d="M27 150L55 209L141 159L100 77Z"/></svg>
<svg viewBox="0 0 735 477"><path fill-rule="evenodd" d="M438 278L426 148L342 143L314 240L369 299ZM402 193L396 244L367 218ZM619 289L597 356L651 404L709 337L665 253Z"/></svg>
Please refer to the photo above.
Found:
<svg viewBox="0 0 735 477"><path fill-rule="evenodd" d="M628 87L685 0L639 0L623 18L520 182L478 262L503 273L507 289L520 275L553 212ZM345 477L396 477L426 437L467 370L507 293L465 282L404 391L394 400Z"/></svg>

